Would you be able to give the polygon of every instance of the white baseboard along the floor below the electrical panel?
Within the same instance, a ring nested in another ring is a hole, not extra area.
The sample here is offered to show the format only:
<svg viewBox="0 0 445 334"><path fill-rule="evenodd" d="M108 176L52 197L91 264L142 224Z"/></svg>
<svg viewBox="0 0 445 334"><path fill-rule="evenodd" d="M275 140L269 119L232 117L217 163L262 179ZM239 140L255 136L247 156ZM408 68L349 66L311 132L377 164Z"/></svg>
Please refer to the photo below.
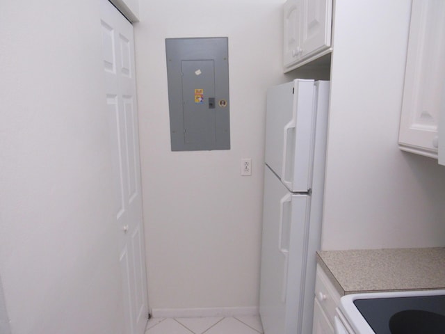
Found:
<svg viewBox="0 0 445 334"><path fill-rule="evenodd" d="M154 308L154 318L236 317L258 315L259 308Z"/></svg>

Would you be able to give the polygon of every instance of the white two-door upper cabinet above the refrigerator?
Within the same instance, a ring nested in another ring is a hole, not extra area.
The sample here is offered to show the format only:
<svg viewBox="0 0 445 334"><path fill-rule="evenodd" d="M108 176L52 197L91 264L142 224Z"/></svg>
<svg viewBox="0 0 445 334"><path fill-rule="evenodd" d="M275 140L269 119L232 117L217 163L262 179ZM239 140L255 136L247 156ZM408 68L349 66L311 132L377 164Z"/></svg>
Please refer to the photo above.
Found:
<svg viewBox="0 0 445 334"><path fill-rule="evenodd" d="M332 0L288 0L284 3L284 72L330 51Z"/></svg>

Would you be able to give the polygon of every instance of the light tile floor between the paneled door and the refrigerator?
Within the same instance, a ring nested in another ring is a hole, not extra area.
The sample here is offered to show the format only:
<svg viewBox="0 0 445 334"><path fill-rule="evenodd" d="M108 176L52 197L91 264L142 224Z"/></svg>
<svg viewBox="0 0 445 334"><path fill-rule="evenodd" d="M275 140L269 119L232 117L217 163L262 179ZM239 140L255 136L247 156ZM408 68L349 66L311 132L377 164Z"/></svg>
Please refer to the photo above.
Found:
<svg viewBox="0 0 445 334"><path fill-rule="evenodd" d="M152 318L145 334L262 334L263 327L257 316Z"/></svg>

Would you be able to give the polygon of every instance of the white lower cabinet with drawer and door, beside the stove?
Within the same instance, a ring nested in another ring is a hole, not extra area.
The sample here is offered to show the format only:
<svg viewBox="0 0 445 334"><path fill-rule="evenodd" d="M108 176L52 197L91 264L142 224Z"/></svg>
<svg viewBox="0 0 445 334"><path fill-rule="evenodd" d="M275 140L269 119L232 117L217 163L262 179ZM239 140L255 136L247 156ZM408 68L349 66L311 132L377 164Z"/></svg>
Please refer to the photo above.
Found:
<svg viewBox="0 0 445 334"><path fill-rule="evenodd" d="M313 334L334 334L335 309L340 297L323 269L317 265Z"/></svg>

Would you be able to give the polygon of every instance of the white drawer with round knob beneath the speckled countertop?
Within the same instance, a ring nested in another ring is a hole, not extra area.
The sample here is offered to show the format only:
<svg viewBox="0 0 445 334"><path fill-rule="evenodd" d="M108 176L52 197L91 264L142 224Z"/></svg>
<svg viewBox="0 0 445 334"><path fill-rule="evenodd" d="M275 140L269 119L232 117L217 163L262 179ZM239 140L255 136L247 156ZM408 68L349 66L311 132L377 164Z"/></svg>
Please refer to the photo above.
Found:
<svg viewBox="0 0 445 334"><path fill-rule="evenodd" d="M340 303L340 294L319 265L317 265L315 281L315 298L318 303L320 303L321 308L326 312L331 323L333 323L335 308L337 308L337 305Z"/></svg>

